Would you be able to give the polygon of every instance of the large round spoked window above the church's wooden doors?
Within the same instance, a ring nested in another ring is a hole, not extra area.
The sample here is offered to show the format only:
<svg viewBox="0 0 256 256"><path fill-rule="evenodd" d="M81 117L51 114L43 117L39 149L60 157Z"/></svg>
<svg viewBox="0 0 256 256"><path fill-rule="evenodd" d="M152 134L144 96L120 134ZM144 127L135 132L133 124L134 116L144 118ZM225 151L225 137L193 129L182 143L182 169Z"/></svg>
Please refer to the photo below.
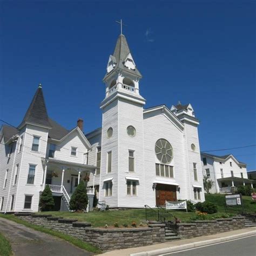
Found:
<svg viewBox="0 0 256 256"><path fill-rule="evenodd" d="M163 164L170 164L173 158L171 144L166 139L159 139L154 146L157 159Z"/></svg>

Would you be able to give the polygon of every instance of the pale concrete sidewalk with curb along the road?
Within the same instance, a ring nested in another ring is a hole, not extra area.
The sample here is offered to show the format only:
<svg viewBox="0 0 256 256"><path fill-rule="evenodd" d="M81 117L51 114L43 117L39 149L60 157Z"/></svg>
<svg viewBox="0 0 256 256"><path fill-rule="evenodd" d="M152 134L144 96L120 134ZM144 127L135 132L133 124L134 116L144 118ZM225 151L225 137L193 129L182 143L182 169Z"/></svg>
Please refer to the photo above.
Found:
<svg viewBox="0 0 256 256"><path fill-rule="evenodd" d="M106 252L102 255L118 255L118 256L148 256L148 255L160 255L164 253L176 252L180 250L186 250L189 248L211 245L216 242L223 242L233 240L241 237L247 237L248 235L256 234L256 227L242 228L241 230L234 230L223 232L214 235L204 235L202 237L196 237L191 239L176 240L171 242L163 242L162 244L149 245L143 247L134 247L123 250L115 250Z"/></svg>

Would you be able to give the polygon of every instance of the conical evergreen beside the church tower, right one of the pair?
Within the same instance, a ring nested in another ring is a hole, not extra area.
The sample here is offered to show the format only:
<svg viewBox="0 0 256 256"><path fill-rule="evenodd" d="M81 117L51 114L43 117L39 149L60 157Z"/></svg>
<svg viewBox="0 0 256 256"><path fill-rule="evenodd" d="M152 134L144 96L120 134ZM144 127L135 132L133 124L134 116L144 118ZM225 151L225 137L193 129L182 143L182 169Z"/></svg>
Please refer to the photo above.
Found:
<svg viewBox="0 0 256 256"><path fill-rule="evenodd" d="M75 192L72 194L69 207L73 211L84 211L88 204L86 183L83 180L80 181Z"/></svg>

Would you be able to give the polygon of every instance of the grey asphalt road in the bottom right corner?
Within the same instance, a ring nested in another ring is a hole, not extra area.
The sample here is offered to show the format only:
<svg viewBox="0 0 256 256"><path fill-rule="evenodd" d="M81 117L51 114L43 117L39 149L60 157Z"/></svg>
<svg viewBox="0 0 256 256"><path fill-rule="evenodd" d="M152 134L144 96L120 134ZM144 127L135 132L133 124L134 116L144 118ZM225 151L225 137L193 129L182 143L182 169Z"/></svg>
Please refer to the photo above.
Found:
<svg viewBox="0 0 256 256"><path fill-rule="evenodd" d="M163 254L165 256L255 256L256 255L256 235L240 238L219 244L208 245L184 250L175 253Z"/></svg>

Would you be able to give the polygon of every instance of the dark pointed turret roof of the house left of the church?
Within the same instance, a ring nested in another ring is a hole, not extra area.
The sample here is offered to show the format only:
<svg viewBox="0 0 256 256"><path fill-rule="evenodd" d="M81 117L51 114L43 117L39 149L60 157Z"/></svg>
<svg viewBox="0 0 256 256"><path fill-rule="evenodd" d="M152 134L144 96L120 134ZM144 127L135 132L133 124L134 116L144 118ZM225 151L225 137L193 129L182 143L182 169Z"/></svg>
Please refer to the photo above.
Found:
<svg viewBox="0 0 256 256"><path fill-rule="evenodd" d="M26 111L26 114L18 128L21 128L26 123L51 127L44 102L42 85L38 86L35 96L30 103L29 109Z"/></svg>

